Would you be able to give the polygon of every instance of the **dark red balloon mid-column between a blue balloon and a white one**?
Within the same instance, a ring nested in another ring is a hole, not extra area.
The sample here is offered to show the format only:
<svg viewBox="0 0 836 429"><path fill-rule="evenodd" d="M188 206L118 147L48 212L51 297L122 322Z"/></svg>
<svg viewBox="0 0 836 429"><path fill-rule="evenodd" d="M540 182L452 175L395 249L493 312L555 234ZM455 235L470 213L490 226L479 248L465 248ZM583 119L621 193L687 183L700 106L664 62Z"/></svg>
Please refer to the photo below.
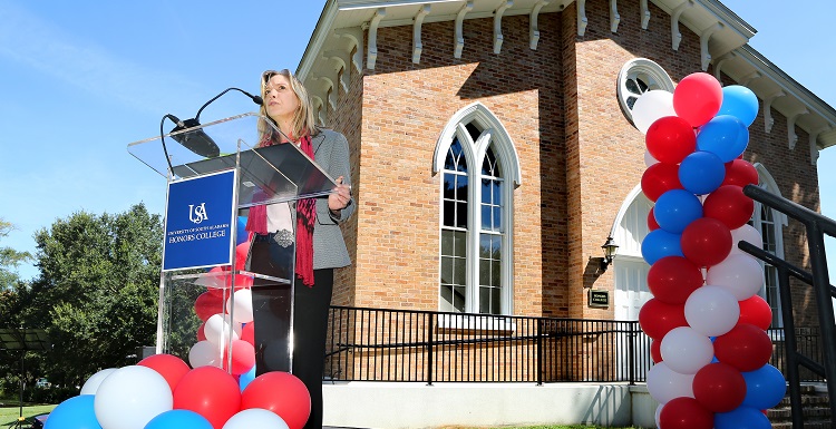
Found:
<svg viewBox="0 0 836 429"><path fill-rule="evenodd" d="M731 253L731 231L716 218L698 218L682 231L680 245L697 266L717 265Z"/></svg>

